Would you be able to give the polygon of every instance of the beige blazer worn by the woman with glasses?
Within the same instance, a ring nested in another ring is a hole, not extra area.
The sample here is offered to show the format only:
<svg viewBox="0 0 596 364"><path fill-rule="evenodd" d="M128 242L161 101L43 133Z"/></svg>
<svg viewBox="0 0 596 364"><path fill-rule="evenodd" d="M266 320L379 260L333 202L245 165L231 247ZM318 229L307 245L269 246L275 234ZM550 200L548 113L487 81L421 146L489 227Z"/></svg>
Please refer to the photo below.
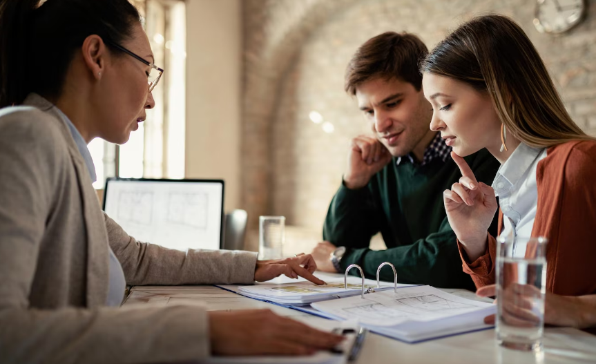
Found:
<svg viewBox="0 0 596 364"><path fill-rule="evenodd" d="M0 363L156 363L209 355L204 307L105 307L108 243L128 285L251 283L256 254L138 242L99 207L52 104L0 110Z"/></svg>

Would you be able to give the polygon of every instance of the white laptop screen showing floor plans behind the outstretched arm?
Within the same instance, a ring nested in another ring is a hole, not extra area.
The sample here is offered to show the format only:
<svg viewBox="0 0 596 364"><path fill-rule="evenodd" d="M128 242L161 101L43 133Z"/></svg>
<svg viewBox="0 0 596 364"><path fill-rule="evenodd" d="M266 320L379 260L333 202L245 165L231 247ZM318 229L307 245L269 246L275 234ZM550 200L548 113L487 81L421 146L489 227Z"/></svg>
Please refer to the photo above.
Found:
<svg viewBox="0 0 596 364"><path fill-rule="evenodd" d="M223 180L108 178L104 211L128 235L171 249L220 249Z"/></svg>

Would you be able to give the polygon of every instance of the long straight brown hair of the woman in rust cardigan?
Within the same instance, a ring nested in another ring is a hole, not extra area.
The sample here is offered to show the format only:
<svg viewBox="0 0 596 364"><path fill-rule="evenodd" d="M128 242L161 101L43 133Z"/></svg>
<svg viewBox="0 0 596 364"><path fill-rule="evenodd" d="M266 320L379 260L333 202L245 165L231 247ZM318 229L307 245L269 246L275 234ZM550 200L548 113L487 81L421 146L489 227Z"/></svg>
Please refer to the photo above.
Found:
<svg viewBox="0 0 596 364"><path fill-rule="evenodd" d="M487 92L508 132L528 146L595 140L573 122L538 51L508 17L485 15L463 23L427 55L421 73Z"/></svg>

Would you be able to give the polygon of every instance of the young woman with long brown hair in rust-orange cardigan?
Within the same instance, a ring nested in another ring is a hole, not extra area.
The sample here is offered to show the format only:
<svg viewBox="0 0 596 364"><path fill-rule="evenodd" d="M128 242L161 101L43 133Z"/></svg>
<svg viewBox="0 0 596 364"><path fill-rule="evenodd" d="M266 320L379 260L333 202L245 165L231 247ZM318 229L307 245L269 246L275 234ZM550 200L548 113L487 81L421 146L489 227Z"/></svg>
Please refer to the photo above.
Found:
<svg viewBox="0 0 596 364"><path fill-rule="evenodd" d="M478 294L494 295L496 193L501 236L548 238L546 323L596 325L596 141L568 115L530 39L508 17L477 17L439 42L421 72L430 127L463 175L443 198ZM492 186L462 158L483 148L501 162Z"/></svg>

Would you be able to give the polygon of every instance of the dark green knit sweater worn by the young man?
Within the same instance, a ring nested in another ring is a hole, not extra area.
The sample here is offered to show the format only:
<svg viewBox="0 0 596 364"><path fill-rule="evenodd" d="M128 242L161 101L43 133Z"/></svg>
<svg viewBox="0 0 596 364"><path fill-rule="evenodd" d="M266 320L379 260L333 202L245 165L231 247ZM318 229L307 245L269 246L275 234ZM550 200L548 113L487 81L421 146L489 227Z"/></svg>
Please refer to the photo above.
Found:
<svg viewBox="0 0 596 364"><path fill-rule="evenodd" d="M465 157L479 182L492 184L499 162L482 149ZM434 158L423 166L396 158L376 173L362 189L340 186L331 200L323 238L348 250L341 267L358 264L366 278L376 279L382 262L396 267L398 282L475 290L461 267L461 258L443 205L443 191L459 181L461 173L451 157ZM369 249L372 236L381 231L387 250ZM497 236L497 214L490 232ZM352 269L351 274L358 274ZM383 268L381 279L392 282L393 272Z"/></svg>

